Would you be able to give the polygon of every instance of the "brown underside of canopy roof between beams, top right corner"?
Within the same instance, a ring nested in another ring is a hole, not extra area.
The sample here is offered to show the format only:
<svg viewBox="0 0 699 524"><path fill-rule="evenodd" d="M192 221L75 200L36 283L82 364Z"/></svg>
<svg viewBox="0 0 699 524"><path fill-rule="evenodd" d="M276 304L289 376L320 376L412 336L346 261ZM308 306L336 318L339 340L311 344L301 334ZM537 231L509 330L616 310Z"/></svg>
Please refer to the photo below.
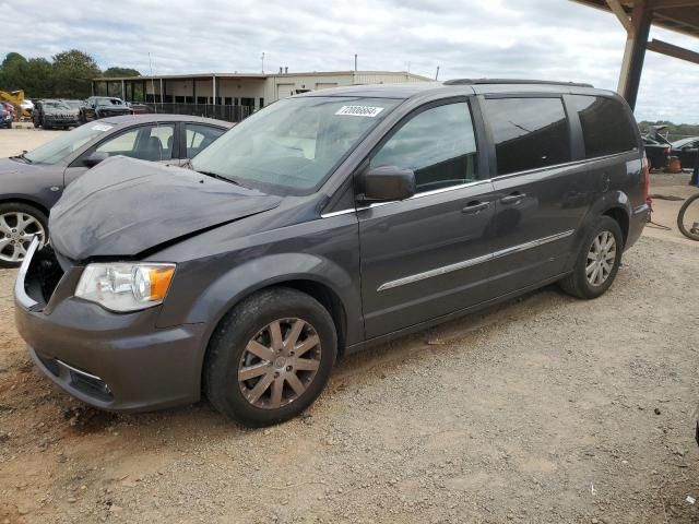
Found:
<svg viewBox="0 0 699 524"><path fill-rule="evenodd" d="M606 0L576 0L592 8L612 12ZM644 0L653 11L653 25L699 37L699 0ZM641 0L619 0L623 9L630 14L635 3Z"/></svg>

